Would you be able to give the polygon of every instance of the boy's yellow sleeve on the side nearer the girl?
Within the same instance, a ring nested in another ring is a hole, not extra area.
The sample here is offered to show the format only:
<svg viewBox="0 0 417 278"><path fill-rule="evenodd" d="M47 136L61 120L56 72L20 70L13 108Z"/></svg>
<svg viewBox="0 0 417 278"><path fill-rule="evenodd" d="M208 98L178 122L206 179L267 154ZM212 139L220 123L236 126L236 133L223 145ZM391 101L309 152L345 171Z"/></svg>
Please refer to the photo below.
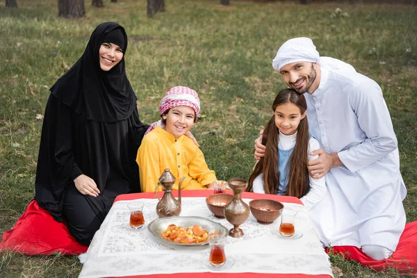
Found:
<svg viewBox="0 0 417 278"><path fill-rule="evenodd" d="M197 152L195 152L194 158L188 164L188 174L190 174L190 177L197 180L198 183L204 186L204 188L206 185L212 183L213 181L217 181L215 172L208 169L207 163L204 160L204 154L199 148L197 148Z"/></svg>

